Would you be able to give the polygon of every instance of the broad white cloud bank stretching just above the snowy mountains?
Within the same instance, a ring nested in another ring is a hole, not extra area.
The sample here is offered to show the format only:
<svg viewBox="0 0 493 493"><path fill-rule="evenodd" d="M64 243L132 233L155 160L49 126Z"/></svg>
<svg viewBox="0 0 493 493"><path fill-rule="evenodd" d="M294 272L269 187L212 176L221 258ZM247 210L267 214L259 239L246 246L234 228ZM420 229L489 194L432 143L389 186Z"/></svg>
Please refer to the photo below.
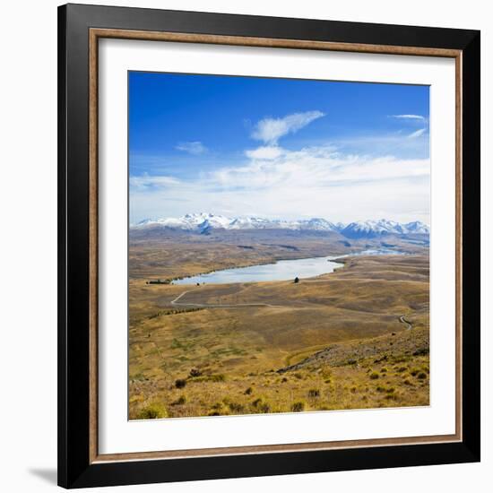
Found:
<svg viewBox="0 0 493 493"><path fill-rule="evenodd" d="M259 149L241 166L193 179L141 177L132 192L131 221L196 211L246 215L252 208L277 218L429 221L428 159L371 158L332 147Z"/></svg>

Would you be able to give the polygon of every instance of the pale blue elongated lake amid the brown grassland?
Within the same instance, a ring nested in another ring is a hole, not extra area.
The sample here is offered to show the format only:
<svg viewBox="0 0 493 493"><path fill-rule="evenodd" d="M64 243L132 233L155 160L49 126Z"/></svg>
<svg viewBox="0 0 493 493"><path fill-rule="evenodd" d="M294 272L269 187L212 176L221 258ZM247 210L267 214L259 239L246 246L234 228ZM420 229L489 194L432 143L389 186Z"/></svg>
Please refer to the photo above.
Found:
<svg viewBox="0 0 493 493"><path fill-rule="evenodd" d="M359 254L351 255L402 255L402 252L393 250L366 250ZM336 258L349 255L317 256L313 258L299 258L296 260L280 260L275 264L251 265L250 267L238 267L236 269L224 269L222 271L199 274L186 277L173 284L230 284L233 282L261 282L261 281L290 281L295 277L306 279L317 275L333 272L341 263L333 262Z"/></svg>

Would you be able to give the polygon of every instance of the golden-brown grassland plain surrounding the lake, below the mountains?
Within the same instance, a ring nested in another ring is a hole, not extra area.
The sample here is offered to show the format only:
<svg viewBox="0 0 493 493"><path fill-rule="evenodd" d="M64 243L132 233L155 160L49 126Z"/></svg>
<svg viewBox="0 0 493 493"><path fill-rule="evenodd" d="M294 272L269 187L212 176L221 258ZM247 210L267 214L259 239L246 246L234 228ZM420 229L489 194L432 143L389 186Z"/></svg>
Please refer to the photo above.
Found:
<svg viewBox="0 0 493 493"><path fill-rule="evenodd" d="M131 241L130 419L428 405L428 249L346 257L296 284L146 284L348 251L274 239Z"/></svg>

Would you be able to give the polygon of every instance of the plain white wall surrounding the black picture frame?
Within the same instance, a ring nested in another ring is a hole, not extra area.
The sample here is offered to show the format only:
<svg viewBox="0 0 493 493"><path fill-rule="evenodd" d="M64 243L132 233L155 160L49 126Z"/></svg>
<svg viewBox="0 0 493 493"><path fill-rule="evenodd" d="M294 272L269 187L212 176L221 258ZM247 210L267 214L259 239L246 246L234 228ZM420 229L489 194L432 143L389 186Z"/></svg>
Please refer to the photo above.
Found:
<svg viewBox="0 0 493 493"><path fill-rule="evenodd" d="M246 480L125 487L128 491L204 493L328 490L366 493L487 491L493 482L493 363L487 306L493 298L493 15L489 3L449 0L288 2L287 0L144 0L121 4L181 10L249 13L338 21L385 22L481 30L482 49L482 463L349 471ZM0 488L56 489L56 6L2 5L0 74ZM478 275L480 273L478 272ZM124 490L123 488L111 491Z"/></svg>

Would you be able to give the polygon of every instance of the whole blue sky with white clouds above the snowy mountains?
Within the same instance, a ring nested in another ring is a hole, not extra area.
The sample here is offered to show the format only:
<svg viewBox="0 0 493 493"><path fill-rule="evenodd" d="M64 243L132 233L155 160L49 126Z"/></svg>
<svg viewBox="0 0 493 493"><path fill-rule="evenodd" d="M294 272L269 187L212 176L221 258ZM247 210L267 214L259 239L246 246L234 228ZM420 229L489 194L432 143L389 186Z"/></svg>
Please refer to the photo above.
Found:
<svg viewBox="0 0 493 493"><path fill-rule="evenodd" d="M429 90L129 74L130 221L429 221Z"/></svg>

